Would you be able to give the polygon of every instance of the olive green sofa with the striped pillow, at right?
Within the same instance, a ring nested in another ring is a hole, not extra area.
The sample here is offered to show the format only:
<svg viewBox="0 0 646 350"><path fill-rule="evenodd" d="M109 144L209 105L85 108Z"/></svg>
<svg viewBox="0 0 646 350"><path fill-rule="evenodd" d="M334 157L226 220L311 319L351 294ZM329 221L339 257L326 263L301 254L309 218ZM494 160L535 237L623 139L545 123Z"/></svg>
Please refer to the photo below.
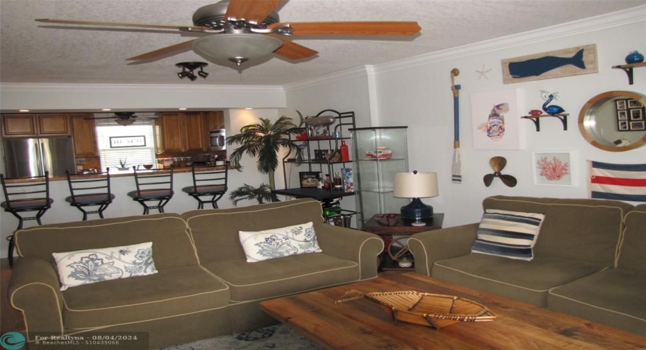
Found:
<svg viewBox="0 0 646 350"><path fill-rule="evenodd" d="M646 335L646 205L493 196L483 210L543 213L533 259L472 253L479 222L415 234L415 271Z"/></svg>

